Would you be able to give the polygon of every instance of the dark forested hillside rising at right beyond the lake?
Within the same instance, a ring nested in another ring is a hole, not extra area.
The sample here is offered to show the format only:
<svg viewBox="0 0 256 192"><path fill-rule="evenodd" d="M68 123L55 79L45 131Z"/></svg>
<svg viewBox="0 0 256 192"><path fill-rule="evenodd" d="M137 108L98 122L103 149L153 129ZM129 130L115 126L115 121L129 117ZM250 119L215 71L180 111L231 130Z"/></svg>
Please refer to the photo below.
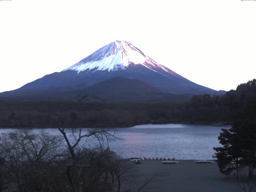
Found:
<svg viewBox="0 0 256 192"><path fill-rule="evenodd" d="M233 122L255 117L256 79L237 86L223 96L193 96L184 109L182 120L191 122Z"/></svg>

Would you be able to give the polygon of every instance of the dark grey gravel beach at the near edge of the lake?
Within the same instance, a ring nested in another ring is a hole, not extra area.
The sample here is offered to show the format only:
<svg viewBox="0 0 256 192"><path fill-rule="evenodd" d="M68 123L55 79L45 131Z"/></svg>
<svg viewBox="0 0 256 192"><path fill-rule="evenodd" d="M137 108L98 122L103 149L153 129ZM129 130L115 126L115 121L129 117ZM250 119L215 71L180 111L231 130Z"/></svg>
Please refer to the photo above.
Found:
<svg viewBox="0 0 256 192"><path fill-rule="evenodd" d="M141 164L134 165L139 174L150 176L158 172L158 176L142 191L241 192L232 182L234 177L221 174L216 162L195 164L194 160L178 161L179 164L162 164L162 160L143 160Z"/></svg>

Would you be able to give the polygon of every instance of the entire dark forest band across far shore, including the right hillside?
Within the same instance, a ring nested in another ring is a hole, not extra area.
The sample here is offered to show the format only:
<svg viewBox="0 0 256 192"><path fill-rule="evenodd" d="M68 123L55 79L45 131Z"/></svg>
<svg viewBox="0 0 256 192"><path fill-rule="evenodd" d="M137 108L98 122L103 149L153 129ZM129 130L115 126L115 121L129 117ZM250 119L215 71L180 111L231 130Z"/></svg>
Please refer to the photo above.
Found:
<svg viewBox="0 0 256 192"><path fill-rule="evenodd" d="M188 102L105 103L0 101L0 127L57 127L49 118L70 114L68 127L132 126L148 123L225 124L256 116L256 79L222 96L192 96ZM72 110L72 112L71 112ZM70 113L71 112L71 113Z"/></svg>

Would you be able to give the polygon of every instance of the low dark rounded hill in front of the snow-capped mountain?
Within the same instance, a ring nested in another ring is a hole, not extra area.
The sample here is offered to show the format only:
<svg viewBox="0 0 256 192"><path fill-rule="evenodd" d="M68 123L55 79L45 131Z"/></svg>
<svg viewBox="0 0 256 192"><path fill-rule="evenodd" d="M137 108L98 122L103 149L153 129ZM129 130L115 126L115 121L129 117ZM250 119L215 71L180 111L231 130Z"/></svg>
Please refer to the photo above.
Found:
<svg viewBox="0 0 256 192"><path fill-rule="evenodd" d="M111 78L84 90L85 94L99 96L104 102L156 102L170 99L171 94L160 92L154 86L141 80L123 77ZM177 99L177 98L175 98ZM180 97L179 102L188 100L188 97Z"/></svg>

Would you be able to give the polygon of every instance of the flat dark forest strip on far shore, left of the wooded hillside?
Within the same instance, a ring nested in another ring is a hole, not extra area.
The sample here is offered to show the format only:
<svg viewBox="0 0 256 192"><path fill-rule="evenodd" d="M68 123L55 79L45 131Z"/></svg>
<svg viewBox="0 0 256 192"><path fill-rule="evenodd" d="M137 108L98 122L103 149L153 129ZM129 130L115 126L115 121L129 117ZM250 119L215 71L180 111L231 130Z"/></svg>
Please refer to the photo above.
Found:
<svg viewBox="0 0 256 192"><path fill-rule="evenodd" d="M47 114L62 115L72 102L0 102L0 127L58 127ZM67 127L112 127L179 122L184 104L173 103L81 103Z"/></svg>

